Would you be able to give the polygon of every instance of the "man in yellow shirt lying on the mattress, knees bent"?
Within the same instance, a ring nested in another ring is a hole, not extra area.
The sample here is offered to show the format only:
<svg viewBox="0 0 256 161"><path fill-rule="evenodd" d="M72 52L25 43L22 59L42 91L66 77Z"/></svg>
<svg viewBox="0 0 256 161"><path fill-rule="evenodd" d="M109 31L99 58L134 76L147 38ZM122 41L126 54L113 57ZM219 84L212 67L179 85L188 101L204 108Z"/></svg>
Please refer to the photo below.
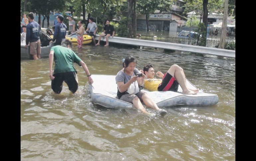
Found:
<svg viewBox="0 0 256 161"><path fill-rule="evenodd" d="M172 65L165 74L160 71L156 73L156 75L163 78L163 80L154 78L155 70L150 64L145 65L143 71L140 70L140 72L146 75L144 88L150 91L177 92L179 84L183 90L182 93L185 95L195 95L199 91L198 89L192 90L188 88L184 71L176 64Z"/></svg>

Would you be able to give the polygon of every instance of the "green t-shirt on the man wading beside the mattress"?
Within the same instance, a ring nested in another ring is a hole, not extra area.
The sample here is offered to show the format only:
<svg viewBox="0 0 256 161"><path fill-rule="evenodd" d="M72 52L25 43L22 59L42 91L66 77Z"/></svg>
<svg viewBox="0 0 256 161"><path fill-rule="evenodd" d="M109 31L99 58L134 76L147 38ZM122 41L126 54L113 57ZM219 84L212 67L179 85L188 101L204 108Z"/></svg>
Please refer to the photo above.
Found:
<svg viewBox="0 0 256 161"><path fill-rule="evenodd" d="M76 72L73 63L77 63L79 66L81 59L68 47L53 46L51 51L54 51L54 74L65 72Z"/></svg>

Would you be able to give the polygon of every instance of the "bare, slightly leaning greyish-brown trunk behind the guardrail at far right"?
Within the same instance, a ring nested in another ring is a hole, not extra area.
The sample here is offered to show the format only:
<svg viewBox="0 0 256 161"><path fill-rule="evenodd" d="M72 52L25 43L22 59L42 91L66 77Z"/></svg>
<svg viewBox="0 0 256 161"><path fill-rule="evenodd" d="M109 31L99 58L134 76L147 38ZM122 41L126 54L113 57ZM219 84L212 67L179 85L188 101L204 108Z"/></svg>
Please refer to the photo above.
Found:
<svg viewBox="0 0 256 161"><path fill-rule="evenodd" d="M227 33L227 10L228 10L228 0L225 0L224 5L224 15L223 15L223 22L222 22L222 33L219 40L219 47L220 49L225 48L225 40L226 40L226 33Z"/></svg>

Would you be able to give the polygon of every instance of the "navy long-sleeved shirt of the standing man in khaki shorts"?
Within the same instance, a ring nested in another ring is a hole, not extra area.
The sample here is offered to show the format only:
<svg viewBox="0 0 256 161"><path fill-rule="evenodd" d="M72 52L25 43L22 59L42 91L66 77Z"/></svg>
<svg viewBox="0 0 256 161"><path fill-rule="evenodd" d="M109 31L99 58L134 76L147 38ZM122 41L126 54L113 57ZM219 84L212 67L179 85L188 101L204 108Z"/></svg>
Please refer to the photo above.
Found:
<svg viewBox="0 0 256 161"><path fill-rule="evenodd" d="M40 40L39 31L40 26L37 22L32 21L27 25L26 45L28 45L29 42L35 42Z"/></svg>

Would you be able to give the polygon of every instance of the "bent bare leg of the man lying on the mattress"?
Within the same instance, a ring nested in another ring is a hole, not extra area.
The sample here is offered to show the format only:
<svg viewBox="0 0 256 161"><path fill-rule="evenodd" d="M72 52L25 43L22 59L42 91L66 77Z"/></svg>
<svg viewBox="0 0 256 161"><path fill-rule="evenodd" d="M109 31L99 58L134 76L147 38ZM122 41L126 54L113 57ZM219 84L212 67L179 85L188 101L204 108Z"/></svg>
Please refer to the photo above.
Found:
<svg viewBox="0 0 256 161"><path fill-rule="evenodd" d="M171 74L177 80L177 82L180 84L180 86L183 90L183 92L182 92L183 94L195 95L197 93L198 90L192 91L188 88L184 71L179 65L176 65L176 64L172 65L167 72L169 74Z"/></svg>

